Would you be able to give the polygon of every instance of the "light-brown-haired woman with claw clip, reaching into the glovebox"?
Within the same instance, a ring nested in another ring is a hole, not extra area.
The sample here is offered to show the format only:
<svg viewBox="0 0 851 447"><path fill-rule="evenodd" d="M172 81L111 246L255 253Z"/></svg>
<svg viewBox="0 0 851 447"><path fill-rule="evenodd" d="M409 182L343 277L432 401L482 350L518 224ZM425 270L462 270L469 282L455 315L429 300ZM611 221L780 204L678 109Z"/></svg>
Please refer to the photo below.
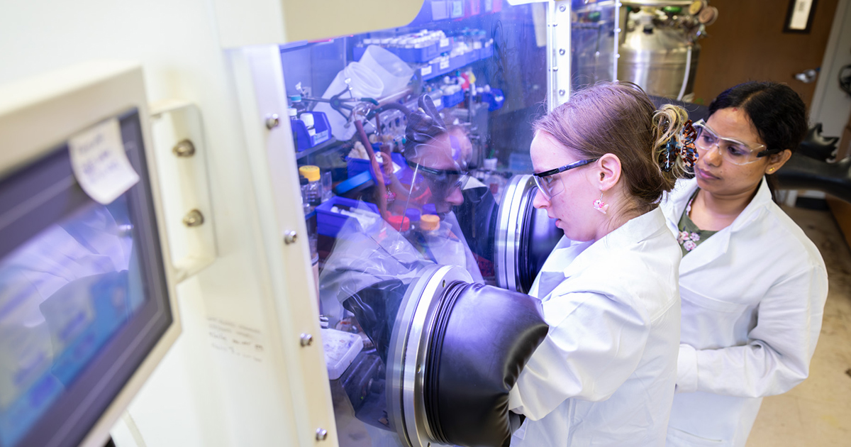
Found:
<svg viewBox="0 0 851 447"><path fill-rule="evenodd" d="M529 293L550 332L511 390L509 409L527 416L512 447L665 444L681 255L659 201L693 161L687 118L634 84L600 83L534 124L533 204L565 238Z"/></svg>

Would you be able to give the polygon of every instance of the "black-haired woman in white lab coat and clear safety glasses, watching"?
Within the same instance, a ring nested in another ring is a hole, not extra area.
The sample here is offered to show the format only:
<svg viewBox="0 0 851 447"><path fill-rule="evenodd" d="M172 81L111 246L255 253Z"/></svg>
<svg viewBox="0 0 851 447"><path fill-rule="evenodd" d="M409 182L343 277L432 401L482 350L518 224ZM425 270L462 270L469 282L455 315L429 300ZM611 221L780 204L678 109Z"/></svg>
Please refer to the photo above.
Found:
<svg viewBox="0 0 851 447"><path fill-rule="evenodd" d="M742 83L695 123L695 178L663 201L683 251L677 394L669 446L744 446L763 396L807 378L827 273L819 250L772 201L767 175L807 132L797 93Z"/></svg>

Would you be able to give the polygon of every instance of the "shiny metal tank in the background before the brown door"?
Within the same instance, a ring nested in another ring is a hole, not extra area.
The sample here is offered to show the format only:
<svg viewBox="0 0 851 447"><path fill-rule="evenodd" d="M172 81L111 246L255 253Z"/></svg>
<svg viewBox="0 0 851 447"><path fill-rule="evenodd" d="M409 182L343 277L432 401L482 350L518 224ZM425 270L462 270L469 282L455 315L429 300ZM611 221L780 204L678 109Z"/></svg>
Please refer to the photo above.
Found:
<svg viewBox="0 0 851 447"><path fill-rule="evenodd" d="M637 83L649 95L692 100L697 41L717 14L705 0L623 2L618 79Z"/></svg>

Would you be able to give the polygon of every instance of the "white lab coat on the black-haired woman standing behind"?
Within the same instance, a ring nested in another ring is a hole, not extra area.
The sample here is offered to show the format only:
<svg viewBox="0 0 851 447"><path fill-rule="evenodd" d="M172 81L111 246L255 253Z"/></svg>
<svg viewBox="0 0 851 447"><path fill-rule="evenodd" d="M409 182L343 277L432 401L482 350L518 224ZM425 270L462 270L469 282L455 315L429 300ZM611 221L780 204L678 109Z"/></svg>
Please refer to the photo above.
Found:
<svg viewBox="0 0 851 447"><path fill-rule="evenodd" d="M697 181L661 204L671 232ZM727 228L683 256L683 332L669 446L744 446L762 396L807 378L827 273L819 250L765 180Z"/></svg>

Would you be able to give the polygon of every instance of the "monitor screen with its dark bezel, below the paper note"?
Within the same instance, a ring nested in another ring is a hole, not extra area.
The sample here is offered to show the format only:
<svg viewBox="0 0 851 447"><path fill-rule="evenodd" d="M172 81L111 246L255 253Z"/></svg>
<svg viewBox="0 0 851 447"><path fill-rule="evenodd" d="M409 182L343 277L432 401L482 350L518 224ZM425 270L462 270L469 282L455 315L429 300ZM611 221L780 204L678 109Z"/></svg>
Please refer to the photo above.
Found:
<svg viewBox="0 0 851 447"><path fill-rule="evenodd" d="M138 112L140 181L89 198L67 143L0 178L0 447L77 445L172 323Z"/></svg>

